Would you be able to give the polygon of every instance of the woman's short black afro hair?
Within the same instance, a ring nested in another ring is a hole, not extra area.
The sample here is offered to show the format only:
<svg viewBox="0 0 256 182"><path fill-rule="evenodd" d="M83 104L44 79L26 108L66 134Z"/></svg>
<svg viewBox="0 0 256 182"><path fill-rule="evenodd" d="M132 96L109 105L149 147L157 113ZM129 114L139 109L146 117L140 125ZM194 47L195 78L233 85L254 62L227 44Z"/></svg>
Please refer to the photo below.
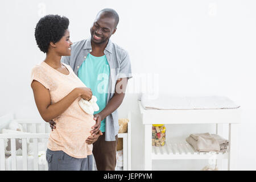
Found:
<svg viewBox="0 0 256 182"><path fill-rule="evenodd" d="M49 43L59 42L68 26L69 20L65 16L46 15L41 18L35 28L35 39L40 50L47 53Z"/></svg>

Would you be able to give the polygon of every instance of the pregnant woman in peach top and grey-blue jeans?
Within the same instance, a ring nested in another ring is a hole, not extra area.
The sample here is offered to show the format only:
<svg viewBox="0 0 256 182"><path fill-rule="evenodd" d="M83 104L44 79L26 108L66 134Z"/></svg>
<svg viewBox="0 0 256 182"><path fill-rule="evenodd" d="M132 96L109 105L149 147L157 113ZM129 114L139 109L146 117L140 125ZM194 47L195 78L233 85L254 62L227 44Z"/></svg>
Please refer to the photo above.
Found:
<svg viewBox="0 0 256 182"><path fill-rule="evenodd" d="M31 72L31 88L36 106L46 122L54 121L46 151L48 169L92 170L92 142L86 143L91 130L97 128L92 114L79 106L83 98L89 101L92 92L75 75L69 65L61 63L61 56L71 55L69 20L64 16L46 15L35 28L35 39L46 59ZM95 141L94 141L95 142Z"/></svg>

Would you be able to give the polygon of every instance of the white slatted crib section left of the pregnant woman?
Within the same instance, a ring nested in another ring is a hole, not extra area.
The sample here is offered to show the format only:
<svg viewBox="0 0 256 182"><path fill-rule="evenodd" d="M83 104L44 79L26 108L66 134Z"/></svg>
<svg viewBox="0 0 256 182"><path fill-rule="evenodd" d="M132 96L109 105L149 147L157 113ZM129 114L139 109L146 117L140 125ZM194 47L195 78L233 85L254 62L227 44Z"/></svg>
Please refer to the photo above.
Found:
<svg viewBox="0 0 256 182"><path fill-rule="evenodd" d="M48 170L48 165L45 159L45 155L43 159L43 165L39 165L39 156L38 149L40 145L44 144L43 150L46 151L47 141L49 138L49 132L51 128L49 124L42 121L35 120L22 120L22 119L14 119L14 114L9 113L0 117L0 130L6 129L11 121L16 121L23 126L25 132L28 134L0 134L0 169L1 171L5 170ZM11 155L6 156L5 154L5 139L11 140ZM22 139L22 155L16 155L16 142L15 139ZM27 154L27 141L32 143L32 151L33 155ZM11 161L11 162L10 162ZM18 165L17 167L17 164ZM22 166L22 167L21 167Z"/></svg>

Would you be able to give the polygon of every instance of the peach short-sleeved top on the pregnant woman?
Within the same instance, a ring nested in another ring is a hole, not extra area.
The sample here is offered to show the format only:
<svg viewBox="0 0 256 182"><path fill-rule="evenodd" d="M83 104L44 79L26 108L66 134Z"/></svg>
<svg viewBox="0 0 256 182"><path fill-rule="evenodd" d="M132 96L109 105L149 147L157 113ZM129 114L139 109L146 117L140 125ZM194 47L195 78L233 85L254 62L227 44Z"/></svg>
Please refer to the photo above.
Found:
<svg viewBox="0 0 256 182"><path fill-rule="evenodd" d="M39 81L49 90L51 104L60 101L73 89L85 86L69 65L62 64L68 69L68 75L60 73L44 61L35 65L31 72L31 82ZM93 145L86 144L85 140L90 136L95 121L93 115L81 109L78 104L80 99L81 97L77 98L64 113L53 119L56 122L56 129L51 131L49 136L49 150L62 150L74 158L86 158L92 154Z"/></svg>

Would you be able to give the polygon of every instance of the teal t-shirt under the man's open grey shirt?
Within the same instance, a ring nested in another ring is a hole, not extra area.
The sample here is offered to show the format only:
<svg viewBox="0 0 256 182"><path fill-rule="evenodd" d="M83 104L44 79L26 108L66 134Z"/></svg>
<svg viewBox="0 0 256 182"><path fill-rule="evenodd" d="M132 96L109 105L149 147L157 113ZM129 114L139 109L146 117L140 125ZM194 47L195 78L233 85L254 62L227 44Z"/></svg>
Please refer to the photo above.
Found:
<svg viewBox="0 0 256 182"><path fill-rule="evenodd" d="M110 68L106 56L96 57L89 53L77 75L92 90L93 96L97 97L100 110L95 111L94 114L100 113L106 106L108 96ZM105 132L105 119L101 121L100 130Z"/></svg>

